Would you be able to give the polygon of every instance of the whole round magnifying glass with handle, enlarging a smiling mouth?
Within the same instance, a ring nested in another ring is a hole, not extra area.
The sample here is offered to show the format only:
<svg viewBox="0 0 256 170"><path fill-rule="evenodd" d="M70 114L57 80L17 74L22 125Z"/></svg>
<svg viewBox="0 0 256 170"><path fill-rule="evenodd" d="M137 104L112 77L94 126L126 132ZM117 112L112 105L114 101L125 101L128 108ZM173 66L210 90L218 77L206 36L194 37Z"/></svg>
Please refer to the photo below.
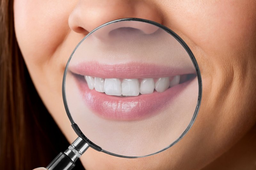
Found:
<svg viewBox="0 0 256 170"><path fill-rule="evenodd" d="M88 147L124 158L170 148L195 122L202 80L194 55L176 33L125 18L79 42L66 65L62 94L78 138L49 170L72 169Z"/></svg>

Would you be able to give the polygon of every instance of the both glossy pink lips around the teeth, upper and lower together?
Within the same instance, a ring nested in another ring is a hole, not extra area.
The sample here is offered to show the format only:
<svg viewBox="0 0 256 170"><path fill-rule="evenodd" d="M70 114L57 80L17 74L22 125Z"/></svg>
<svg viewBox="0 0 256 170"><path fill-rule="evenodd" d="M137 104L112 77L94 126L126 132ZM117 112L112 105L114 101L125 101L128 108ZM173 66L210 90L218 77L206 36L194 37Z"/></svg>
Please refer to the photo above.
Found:
<svg viewBox="0 0 256 170"><path fill-rule="evenodd" d="M179 96L179 93L196 79L188 80L161 93L154 91L151 94L120 97L97 92L95 89L90 90L81 75L101 78L159 78L191 74L195 73L195 70L172 69L142 63L107 65L98 62L80 63L79 65L70 65L68 68L75 77L86 105L93 113L114 120L138 120L153 115L157 110L164 109L167 104L171 104Z"/></svg>

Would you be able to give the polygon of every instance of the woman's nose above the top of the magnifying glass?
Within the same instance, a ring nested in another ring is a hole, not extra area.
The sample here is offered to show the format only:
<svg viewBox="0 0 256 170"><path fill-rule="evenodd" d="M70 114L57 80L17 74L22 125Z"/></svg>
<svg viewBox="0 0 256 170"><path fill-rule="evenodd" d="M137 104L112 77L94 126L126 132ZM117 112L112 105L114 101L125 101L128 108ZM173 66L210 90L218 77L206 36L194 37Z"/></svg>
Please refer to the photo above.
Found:
<svg viewBox="0 0 256 170"><path fill-rule="evenodd" d="M68 18L69 27L76 33L87 34L97 26L120 18L143 18L162 22L161 13L147 0L79 0ZM136 27L145 33L144 27Z"/></svg>

